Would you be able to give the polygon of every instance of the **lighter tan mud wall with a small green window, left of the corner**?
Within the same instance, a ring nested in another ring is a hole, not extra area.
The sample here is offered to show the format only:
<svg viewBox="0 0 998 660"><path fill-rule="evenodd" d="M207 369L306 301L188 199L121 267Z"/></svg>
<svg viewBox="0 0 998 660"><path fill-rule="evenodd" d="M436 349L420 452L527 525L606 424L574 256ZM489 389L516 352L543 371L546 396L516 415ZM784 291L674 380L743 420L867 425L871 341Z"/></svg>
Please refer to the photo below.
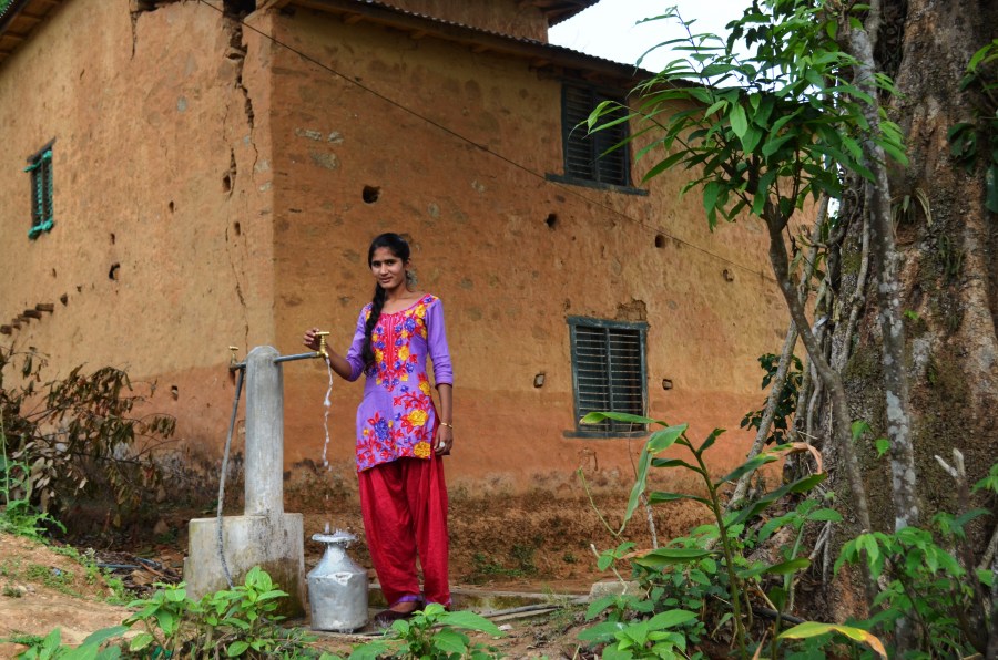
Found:
<svg viewBox="0 0 998 660"><path fill-rule="evenodd" d="M217 455L227 346L274 340L269 47L247 31L243 66L201 3L129 10L67 2L0 65L0 323L54 303L0 342L48 353L47 377L156 381L150 408ZM29 240L21 171L52 138L55 226Z"/></svg>

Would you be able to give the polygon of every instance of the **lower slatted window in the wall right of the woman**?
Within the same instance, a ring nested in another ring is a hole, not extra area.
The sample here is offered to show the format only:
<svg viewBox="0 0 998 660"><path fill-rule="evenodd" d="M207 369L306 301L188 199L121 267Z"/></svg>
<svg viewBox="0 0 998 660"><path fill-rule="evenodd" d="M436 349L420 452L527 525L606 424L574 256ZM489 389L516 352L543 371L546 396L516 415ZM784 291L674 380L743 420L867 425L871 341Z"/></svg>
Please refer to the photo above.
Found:
<svg viewBox="0 0 998 660"><path fill-rule="evenodd" d="M644 424L607 420L579 424L590 412L643 415L648 323L569 317L572 343L572 382L576 392L576 431L579 435L642 435Z"/></svg>

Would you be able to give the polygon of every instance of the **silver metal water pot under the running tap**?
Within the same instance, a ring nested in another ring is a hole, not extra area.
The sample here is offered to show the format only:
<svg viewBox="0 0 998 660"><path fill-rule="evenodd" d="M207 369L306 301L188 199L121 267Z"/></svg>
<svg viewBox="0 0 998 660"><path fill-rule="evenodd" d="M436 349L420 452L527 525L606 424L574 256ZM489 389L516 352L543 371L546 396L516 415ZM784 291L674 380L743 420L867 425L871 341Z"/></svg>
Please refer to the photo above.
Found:
<svg viewBox="0 0 998 660"><path fill-rule="evenodd" d="M367 570L346 553L357 537L337 529L312 539L326 544L323 559L308 574L312 629L349 632L363 628L367 623Z"/></svg>

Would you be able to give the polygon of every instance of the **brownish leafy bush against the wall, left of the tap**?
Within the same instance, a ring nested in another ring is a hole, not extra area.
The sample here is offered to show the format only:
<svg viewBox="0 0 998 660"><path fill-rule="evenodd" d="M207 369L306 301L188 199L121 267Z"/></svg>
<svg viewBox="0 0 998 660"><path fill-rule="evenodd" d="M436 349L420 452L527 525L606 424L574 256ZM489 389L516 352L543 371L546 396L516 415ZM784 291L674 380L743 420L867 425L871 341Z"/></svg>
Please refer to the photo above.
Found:
<svg viewBox="0 0 998 660"><path fill-rule="evenodd" d="M16 359L20 368L16 371ZM59 511L81 494L111 494L115 522L138 506L160 478L152 450L174 431L166 415L135 416L145 396L128 373L77 367L43 382L44 358L0 347L0 429L6 496Z"/></svg>

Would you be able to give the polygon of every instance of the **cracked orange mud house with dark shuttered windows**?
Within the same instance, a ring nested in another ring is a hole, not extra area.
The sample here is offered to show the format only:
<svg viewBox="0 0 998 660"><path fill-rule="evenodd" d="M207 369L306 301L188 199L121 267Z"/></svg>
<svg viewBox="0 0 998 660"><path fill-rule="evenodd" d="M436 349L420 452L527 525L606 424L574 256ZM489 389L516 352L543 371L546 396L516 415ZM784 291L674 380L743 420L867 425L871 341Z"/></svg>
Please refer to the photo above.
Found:
<svg viewBox="0 0 998 660"><path fill-rule="evenodd" d="M734 461L785 331L764 237L711 234L685 173L641 184L597 158L620 135L572 132L643 74L547 42L593 2L0 0L0 341L155 381L214 463L227 347L298 352L315 324L345 350L396 230L445 303L451 483L629 484L644 430L578 424L608 408L730 429ZM288 478L326 386L285 369ZM344 478L359 396L334 384Z"/></svg>

